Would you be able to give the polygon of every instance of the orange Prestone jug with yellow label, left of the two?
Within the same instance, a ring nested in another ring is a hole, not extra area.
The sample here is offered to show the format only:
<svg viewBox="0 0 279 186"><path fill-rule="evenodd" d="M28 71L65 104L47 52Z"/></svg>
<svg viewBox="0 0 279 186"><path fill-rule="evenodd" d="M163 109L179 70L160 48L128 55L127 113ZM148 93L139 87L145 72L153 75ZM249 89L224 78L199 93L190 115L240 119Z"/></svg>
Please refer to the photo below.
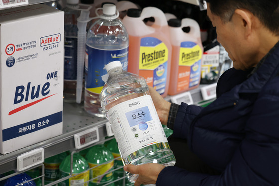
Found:
<svg viewBox="0 0 279 186"><path fill-rule="evenodd" d="M152 25L144 19L154 17ZM163 97L169 89L171 43L166 17L155 7L129 9L122 20L129 34L128 72L144 77Z"/></svg>

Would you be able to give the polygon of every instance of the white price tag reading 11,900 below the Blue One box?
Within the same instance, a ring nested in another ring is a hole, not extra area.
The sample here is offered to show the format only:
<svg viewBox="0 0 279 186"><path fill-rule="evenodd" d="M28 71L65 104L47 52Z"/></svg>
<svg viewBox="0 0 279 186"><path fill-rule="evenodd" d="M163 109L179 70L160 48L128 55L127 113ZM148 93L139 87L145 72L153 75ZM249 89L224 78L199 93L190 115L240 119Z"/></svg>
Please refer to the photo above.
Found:
<svg viewBox="0 0 279 186"><path fill-rule="evenodd" d="M35 149L17 157L17 171L24 171L44 162L44 148Z"/></svg>

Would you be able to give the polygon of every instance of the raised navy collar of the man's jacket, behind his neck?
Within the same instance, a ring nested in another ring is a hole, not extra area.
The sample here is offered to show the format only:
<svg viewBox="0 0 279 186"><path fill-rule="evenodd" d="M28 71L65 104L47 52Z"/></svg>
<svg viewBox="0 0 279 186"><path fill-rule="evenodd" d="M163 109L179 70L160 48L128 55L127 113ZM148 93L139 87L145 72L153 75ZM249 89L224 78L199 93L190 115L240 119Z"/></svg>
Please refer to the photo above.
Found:
<svg viewBox="0 0 279 186"><path fill-rule="evenodd" d="M250 73L250 77L239 87L239 93L259 93L266 82L279 73L279 41L261 59Z"/></svg>

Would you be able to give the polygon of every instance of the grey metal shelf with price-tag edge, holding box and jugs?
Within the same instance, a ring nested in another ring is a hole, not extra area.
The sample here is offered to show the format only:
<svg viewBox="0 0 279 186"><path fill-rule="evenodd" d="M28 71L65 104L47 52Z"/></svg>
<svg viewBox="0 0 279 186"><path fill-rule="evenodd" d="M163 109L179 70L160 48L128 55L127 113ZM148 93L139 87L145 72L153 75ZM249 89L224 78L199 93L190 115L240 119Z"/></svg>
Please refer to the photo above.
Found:
<svg viewBox="0 0 279 186"><path fill-rule="evenodd" d="M200 85L197 89L189 91L193 104L199 105L203 101L201 89L207 86L209 85ZM170 101L171 96L167 96L165 100ZM105 118L94 117L85 112L83 104L64 103L63 134L6 155L0 155L0 174L15 170L17 167L17 157L28 151L44 148L44 158L48 158L67 150L75 149L74 135L79 132L98 127L99 137L102 139L107 136L106 122L108 120Z"/></svg>

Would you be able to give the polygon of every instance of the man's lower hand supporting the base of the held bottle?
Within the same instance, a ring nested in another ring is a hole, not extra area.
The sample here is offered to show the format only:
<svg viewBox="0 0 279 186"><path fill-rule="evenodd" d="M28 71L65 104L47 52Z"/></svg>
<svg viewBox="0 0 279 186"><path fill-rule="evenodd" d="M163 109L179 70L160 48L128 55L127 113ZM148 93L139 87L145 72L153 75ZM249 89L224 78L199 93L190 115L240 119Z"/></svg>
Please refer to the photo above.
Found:
<svg viewBox="0 0 279 186"><path fill-rule="evenodd" d="M125 165L124 171L128 171L129 173L137 174L139 177L135 182L135 186L140 186L141 184L156 184L159 173L165 168L164 165L161 164L142 164L142 165Z"/></svg>

